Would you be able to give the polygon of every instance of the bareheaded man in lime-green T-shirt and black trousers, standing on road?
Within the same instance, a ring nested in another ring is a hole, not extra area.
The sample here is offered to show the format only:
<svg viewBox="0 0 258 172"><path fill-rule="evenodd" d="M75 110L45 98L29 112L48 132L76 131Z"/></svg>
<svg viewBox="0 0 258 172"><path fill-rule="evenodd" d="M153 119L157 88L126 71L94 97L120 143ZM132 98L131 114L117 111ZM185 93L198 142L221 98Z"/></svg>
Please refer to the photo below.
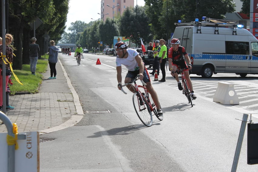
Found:
<svg viewBox="0 0 258 172"><path fill-rule="evenodd" d="M165 65L167 62L167 46L165 46L165 40L164 39L160 39L159 40L159 44L161 46L160 52L158 54L158 56L161 58L159 63L160 63L160 69L162 72L162 79L158 80L159 82L165 82L165 77L166 77L166 71L165 71Z"/></svg>

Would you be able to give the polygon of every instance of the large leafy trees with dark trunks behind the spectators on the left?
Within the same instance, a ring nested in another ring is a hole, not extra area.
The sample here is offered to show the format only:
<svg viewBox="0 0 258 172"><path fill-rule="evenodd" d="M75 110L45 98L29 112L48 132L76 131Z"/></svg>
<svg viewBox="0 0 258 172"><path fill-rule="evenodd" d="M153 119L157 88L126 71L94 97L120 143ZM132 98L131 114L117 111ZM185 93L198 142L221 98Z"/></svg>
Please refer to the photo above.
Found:
<svg viewBox="0 0 258 172"><path fill-rule="evenodd" d="M22 64L29 63L29 44L33 37L29 23L33 23L36 17L43 22L36 29L37 43L41 49L40 56L44 52L45 40L42 35L45 32L56 42L61 39L65 29L68 3L69 0L9 1L8 32L13 34L14 46L17 49L14 52L16 54L13 61L14 69L22 69Z"/></svg>

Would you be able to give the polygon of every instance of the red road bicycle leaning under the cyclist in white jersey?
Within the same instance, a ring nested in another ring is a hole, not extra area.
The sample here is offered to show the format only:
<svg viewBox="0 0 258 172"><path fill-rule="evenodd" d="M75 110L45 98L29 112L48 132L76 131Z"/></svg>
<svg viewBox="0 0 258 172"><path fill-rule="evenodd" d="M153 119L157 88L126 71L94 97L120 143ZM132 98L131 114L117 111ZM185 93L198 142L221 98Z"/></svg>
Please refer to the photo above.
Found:
<svg viewBox="0 0 258 172"><path fill-rule="evenodd" d="M140 118L141 122L145 126L151 126L152 125L151 112L153 112L159 120L163 120L163 115L160 115L160 116L158 115L157 107L154 104L152 98L149 96L149 92L145 87L146 83L144 83L144 81L141 80L143 84L142 86L136 84L136 81L138 80L138 76L139 75L137 75L134 79L132 79L131 83L125 83L124 85L120 85L121 91L127 94L122 87L127 86L129 84L134 85L135 87L135 91L133 94L134 109L137 113L137 116ZM142 92L140 89L142 90Z"/></svg>

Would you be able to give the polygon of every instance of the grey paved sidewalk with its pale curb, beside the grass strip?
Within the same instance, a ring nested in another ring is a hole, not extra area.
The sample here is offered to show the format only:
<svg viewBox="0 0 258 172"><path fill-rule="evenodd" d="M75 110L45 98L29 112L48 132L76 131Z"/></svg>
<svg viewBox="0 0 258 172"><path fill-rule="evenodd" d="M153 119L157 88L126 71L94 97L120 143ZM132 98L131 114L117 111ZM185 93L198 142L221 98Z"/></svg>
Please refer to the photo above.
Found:
<svg viewBox="0 0 258 172"><path fill-rule="evenodd" d="M56 73L56 79L48 80L48 66L39 93L9 96L9 104L15 109L8 110L6 115L17 124L18 132L49 133L73 126L83 117L79 97L60 60L56 63ZM0 133L3 132L7 132L5 124L0 125Z"/></svg>

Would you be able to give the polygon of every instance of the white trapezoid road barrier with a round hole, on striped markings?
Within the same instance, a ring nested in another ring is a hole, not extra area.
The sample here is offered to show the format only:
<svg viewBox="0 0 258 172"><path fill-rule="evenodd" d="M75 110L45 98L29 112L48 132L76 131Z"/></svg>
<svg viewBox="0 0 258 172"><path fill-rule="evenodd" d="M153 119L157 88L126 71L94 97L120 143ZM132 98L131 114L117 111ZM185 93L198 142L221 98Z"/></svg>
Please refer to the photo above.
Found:
<svg viewBox="0 0 258 172"><path fill-rule="evenodd" d="M239 105L239 99L234 89L234 84L218 82L217 90L213 96L213 102L219 102L224 105Z"/></svg>

